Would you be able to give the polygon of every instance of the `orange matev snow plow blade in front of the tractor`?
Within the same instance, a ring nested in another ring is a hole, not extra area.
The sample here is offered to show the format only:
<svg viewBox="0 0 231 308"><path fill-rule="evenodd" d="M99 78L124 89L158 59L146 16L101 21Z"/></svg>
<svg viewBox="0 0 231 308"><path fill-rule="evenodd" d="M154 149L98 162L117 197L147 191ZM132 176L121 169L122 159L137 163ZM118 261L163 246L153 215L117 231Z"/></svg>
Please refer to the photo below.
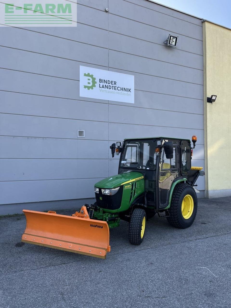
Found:
<svg viewBox="0 0 231 308"><path fill-rule="evenodd" d="M23 210L22 242L105 259L111 250L106 221L90 219L85 206L72 216Z"/></svg>

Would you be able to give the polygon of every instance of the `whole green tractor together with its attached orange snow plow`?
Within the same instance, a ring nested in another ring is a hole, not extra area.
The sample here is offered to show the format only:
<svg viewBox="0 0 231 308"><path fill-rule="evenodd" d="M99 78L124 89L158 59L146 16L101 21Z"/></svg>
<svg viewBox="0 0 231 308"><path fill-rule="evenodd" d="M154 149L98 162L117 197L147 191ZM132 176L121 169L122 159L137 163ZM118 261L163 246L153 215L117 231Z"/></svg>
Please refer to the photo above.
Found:
<svg viewBox="0 0 231 308"><path fill-rule="evenodd" d="M146 222L156 213L176 228L188 228L197 214L195 183L202 167L192 167L197 137L190 140L152 137L113 143L120 155L119 171L95 184L94 204L71 216L23 210L26 229L22 241L74 253L105 258L111 250L109 230L129 223L129 241L144 240Z"/></svg>

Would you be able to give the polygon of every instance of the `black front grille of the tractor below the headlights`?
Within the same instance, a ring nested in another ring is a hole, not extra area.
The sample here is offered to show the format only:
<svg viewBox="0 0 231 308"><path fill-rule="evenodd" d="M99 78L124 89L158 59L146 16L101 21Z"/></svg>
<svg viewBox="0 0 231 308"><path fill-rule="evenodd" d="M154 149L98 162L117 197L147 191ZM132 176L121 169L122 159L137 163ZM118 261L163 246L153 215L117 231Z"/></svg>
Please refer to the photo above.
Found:
<svg viewBox="0 0 231 308"><path fill-rule="evenodd" d="M120 186L120 189L113 196L107 196L102 194L101 188L99 193L95 193L97 205L102 209L116 210L120 208L124 186ZM100 197L102 200L100 200Z"/></svg>

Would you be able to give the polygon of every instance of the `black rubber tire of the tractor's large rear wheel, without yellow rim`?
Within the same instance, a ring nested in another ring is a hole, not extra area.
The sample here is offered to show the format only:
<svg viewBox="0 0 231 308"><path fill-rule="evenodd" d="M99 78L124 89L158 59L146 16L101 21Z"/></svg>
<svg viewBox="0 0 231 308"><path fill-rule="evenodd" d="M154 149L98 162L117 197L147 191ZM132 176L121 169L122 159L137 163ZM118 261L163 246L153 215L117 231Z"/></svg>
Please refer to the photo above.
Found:
<svg viewBox="0 0 231 308"><path fill-rule="evenodd" d="M188 219L183 217L181 210L182 201L186 195L190 195L193 198L193 213ZM176 185L172 193L172 201L168 212L170 217L167 217L167 220L173 227L185 229L192 225L197 214L197 195L191 185L184 183Z"/></svg>

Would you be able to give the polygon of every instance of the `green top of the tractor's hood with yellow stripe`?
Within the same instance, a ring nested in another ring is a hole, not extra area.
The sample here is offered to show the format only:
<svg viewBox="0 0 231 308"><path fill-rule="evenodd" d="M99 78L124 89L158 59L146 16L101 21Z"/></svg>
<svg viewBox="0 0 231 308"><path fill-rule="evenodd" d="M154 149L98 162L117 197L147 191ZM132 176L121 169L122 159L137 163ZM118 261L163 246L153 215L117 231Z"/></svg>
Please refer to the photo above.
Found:
<svg viewBox="0 0 231 308"><path fill-rule="evenodd" d="M128 173L117 174L106 179L103 179L95 184L95 187L98 188L115 188L120 185L127 184L130 182L134 182L136 180L143 179L144 176L140 172L130 171Z"/></svg>

